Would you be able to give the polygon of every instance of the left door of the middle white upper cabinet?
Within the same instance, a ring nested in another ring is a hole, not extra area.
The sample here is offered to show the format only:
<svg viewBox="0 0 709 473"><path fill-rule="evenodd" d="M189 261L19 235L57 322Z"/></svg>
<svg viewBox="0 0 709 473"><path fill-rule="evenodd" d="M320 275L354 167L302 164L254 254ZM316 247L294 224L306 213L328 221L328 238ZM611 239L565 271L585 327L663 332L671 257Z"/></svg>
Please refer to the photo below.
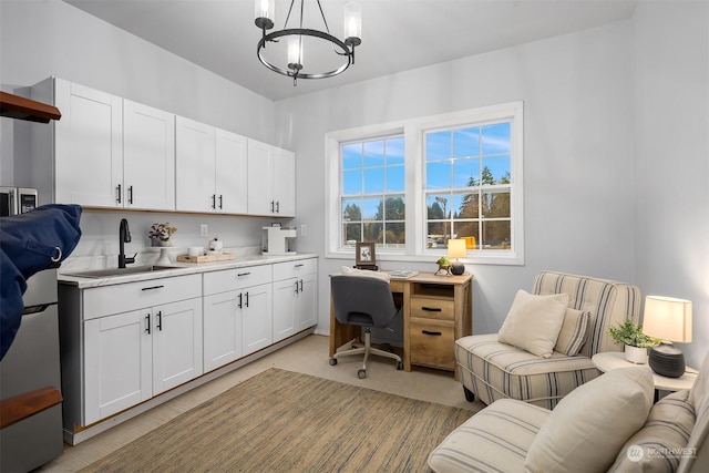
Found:
<svg viewBox="0 0 709 473"><path fill-rule="evenodd" d="M216 128L182 116L175 119L175 207L186 212L214 212Z"/></svg>

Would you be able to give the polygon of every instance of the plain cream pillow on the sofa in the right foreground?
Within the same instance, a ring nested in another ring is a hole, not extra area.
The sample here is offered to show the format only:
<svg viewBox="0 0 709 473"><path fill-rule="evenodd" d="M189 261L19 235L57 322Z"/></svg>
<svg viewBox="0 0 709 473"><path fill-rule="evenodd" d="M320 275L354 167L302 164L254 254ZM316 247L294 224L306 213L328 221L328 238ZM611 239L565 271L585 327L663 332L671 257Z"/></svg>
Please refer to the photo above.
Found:
<svg viewBox="0 0 709 473"><path fill-rule="evenodd" d="M647 419L655 384L646 368L612 370L559 401L530 445L527 472L605 472Z"/></svg>

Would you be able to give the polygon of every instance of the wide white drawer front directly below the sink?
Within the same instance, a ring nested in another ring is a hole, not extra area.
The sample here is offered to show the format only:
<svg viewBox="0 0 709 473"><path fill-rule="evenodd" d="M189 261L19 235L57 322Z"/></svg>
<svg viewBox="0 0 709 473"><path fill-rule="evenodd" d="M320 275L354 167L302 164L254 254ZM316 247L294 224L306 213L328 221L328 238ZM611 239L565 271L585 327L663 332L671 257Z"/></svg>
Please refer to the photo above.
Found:
<svg viewBox="0 0 709 473"><path fill-rule="evenodd" d="M202 297L202 276L150 279L83 290L84 320Z"/></svg>

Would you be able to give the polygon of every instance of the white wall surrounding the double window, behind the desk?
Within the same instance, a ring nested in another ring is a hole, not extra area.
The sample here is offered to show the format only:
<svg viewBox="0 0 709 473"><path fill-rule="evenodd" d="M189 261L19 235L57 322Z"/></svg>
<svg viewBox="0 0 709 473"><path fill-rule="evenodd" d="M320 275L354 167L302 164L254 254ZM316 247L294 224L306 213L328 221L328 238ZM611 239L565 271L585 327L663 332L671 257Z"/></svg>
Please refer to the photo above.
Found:
<svg viewBox="0 0 709 473"><path fill-rule="evenodd" d="M516 289L531 289L541 269L634 279L630 33L623 22L281 101L276 141L297 150L298 182L325 185L326 132L524 101L526 264L467 266L473 331L496 331ZM322 199L316 186L298 187L296 223L309 228L299 244L320 254ZM320 271L343 264L352 261L321 259ZM433 260L380 266L434 269ZM321 278L323 331L328 296Z"/></svg>

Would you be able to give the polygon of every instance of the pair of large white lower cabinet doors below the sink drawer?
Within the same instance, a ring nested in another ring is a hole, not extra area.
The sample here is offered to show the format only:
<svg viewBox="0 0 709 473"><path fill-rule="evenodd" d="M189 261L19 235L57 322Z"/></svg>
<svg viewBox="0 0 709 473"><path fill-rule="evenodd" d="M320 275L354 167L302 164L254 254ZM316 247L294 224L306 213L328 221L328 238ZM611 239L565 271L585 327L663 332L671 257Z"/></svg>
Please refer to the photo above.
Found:
<svg viewBox="0 0 709 473"><path fill-rule="evenodd" d="M202 299L84 322L86 424L202 374Z"/></svg>

